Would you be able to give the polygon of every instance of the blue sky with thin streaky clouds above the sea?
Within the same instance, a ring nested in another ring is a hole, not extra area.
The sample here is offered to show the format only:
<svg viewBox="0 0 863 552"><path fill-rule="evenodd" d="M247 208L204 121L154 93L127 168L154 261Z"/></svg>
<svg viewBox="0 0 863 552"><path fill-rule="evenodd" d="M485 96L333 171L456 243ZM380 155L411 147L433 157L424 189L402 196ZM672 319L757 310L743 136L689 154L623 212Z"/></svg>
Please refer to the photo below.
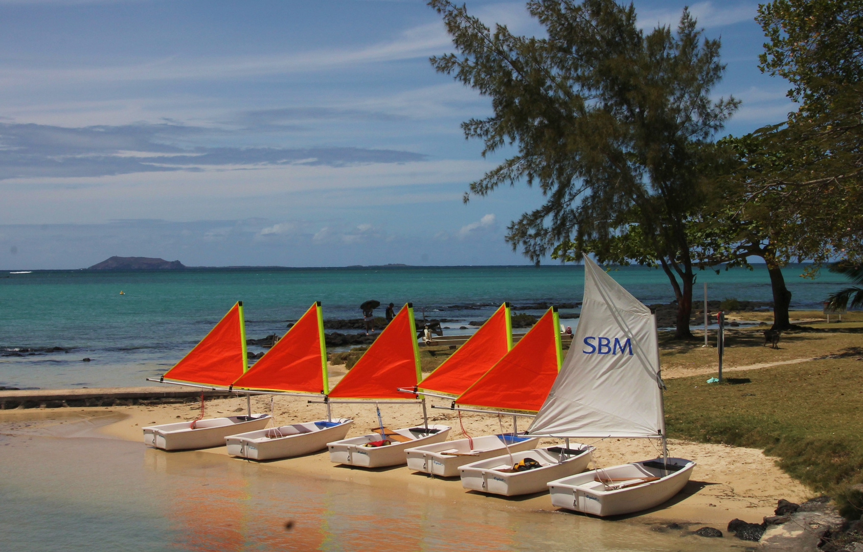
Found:
<svg viewBox="0 0 863 552"><path fill-rule="evenodd" d="M467 5L541 32L524 2ZM636 2L639 25L684 5ZM757 6L690 5L742 101L722 135L793 110ZM502 157L463 137L491 108L432 69L450 51L423 0L0 0L0 269L526 264L504 235L540 191L463 204Z"/></svg>

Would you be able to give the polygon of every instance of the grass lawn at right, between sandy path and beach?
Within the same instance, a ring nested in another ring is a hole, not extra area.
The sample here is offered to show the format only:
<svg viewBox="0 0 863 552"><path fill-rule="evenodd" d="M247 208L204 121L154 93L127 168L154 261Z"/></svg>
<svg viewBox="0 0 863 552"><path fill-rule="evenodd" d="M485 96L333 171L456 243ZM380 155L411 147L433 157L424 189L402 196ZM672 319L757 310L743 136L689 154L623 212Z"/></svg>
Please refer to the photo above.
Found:
<svg viewBox="0 0 863 552"><path fill-rule="evenodd" d="M863 361L827 359L731 375L723 384L707 384L703 375L666 381L669 436L764 449L820 491L863 480Z"/></svg>

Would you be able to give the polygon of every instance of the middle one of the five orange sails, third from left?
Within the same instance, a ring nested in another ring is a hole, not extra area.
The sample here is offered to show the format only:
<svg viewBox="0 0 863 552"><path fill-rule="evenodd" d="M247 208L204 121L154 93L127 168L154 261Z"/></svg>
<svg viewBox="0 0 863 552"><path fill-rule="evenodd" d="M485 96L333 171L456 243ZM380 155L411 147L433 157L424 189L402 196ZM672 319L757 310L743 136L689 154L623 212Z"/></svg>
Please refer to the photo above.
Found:
<svg viewBox="0 0 863 552"><path fill-rule="evenodd" d="M397 387L419 381L419 348L413 305L406 304L353 368L333 387L330 397L406 398Z"/></svg>

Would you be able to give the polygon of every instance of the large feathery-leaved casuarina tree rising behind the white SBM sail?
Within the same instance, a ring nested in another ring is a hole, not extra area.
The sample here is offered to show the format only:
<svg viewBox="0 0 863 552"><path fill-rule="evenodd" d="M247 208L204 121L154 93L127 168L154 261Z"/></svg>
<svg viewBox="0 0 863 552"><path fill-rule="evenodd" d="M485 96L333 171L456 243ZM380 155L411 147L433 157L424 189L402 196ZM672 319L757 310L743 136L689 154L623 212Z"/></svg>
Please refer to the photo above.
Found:
<svg viewBox="0 0 863 552"><path fill-rule="evenodd" d="M431 0L457 53L431 59L491 99L493 115L463 123L483 154L512 151L471 195L501 184L536 185L545 203L508 227L531 260L551 252L577 260L662 267L677 298L677 337L689 337L696 265L690 216L705 201L711 141L734 112L715 101L720 42L688 10L676 29L644 32L632 5L613 0L531 0L544 36L494 31L464 6Z"/></svg>

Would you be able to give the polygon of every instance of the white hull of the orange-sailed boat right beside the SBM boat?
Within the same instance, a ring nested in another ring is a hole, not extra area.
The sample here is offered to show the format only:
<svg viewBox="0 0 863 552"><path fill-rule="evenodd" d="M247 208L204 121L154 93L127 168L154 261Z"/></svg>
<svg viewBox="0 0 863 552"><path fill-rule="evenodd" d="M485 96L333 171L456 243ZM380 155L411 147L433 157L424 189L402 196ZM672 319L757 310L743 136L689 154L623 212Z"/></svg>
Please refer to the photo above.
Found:
<svg viewBox="0 0 863 552"><path fill-rule="evenodd" d="M577 474L588 467L594 447L572 443L568 449L572 452L566 454L563 461L561 450L560 447L544 447L466 464L459 468L462 486L507 497L543 492L548 489L549 481ZM524 472L511 471L514 463L526 458L538 461L542 467Z"/></svg>

